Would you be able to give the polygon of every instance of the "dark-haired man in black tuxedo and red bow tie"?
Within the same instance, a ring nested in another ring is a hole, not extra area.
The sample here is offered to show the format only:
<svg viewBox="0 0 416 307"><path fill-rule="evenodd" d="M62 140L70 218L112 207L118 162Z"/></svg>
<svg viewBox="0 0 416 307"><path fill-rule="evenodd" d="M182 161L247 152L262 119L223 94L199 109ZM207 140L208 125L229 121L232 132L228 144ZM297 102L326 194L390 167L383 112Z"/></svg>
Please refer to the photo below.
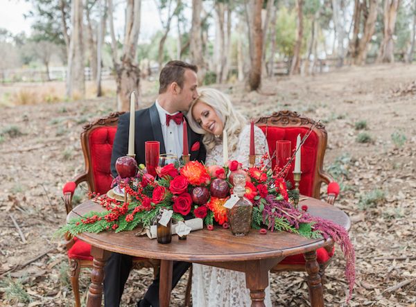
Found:
<svg viewBox="0 0 416 307"><path fill-rule="evenodd" d="M145 163L144 142L159 141L160 153L182 156L183 120L182 112L187 112L197 98L198 87L195 65L182 61L171 61L162 69L159 76L159 95L148 109L135 112L135 155L137 163ZM130 114L120 116L116 137L112 148L111 171L116 177L116 159L127 155ZM201 135L193 132L188 125L188 143L191 160L205 161L205 147ZM172 288L187 271L190 263L173 264ZM105 307L119 306L125 281L132 267L132 256L112 253L105 265L104 301ZM159 277L148 288L137 306L159 307Z"/></svg>

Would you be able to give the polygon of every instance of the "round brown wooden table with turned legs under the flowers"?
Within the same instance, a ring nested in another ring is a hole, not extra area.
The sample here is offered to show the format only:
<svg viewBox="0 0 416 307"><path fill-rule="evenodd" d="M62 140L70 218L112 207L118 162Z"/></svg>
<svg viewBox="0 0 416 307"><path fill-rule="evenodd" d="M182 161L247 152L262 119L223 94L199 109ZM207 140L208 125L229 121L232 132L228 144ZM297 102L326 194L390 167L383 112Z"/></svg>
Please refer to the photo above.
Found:
<svg viewBox="0 0 416 307"><path fill-rule="evenodd" d="M300 202L306 204L308 213L327 220L349 230L351 223L348 216L326 202L307 198ZM102 211L92 200L78 205L70 218L83 216L88 211ZM316 261L316 249L333 244L333 240L310 240L287 232L268 232L266 235L252 229L248 236L233 236L229 229L221 227L214 231L202 229L192 231L187 240L178 240L173 236L172 243L159 244L147 236L135 236L137 231L104 231L100 234L78 234L80 240L92 245L94 256L92 283L89 286L88 307L101 306L105 261L110 252L128 254L146 258L160 259L159 301L161 307L168 307L171 298L171 280L173 261L201 263L229 270L245 272L247 288L250 289L252 306L264 306L264 289L268 286L268 271L286 256L304 254L306 272L308 273L311 306L324 306L319 265Z"/></svg>

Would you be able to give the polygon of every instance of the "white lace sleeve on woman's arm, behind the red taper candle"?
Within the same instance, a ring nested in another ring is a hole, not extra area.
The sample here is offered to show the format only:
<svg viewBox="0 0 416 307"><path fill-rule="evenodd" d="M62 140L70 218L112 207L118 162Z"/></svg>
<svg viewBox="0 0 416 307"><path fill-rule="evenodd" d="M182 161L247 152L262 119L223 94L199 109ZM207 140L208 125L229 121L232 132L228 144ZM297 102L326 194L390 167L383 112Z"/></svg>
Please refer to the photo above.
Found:
<svg viewBox="0 0 416 307"><path fill-rule="evenodd" d="M268 152L268 143L266 136L263 131L254 125L254 147L256 150L256 163L258 163L265 153ZM248 166L248 154L250 152L250 125L245 126L243 131L241 131L239 137L239 148L238 148L238 157L235 159L243 164L243 166ZM268 161L264 161L264 164L268 164Z"/></svg>

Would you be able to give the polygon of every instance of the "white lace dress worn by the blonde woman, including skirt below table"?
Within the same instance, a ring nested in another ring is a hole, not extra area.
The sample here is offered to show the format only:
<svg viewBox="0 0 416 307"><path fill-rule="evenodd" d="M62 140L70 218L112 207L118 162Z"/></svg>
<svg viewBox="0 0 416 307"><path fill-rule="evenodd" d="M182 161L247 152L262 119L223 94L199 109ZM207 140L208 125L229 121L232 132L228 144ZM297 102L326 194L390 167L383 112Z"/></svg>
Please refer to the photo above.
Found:
<svg viewBox="0 0 416 307"><path fill-rule="evenodd" d="M260 128L254 126L254 146L256 153L268 152L266 137ZM228 152L229 160L237 160L248 166L250 148L250 125L245 126L239 135L239 143L234 152ZM207 152L205 165L223 165L223 144L217 144ZM215 235L215 233L214 233ZM266 288L264 304L272 306L270 287ZM245 285L245 274L219 267L193 264L192 273L193 307L250 307L250 290Z"/></svg>

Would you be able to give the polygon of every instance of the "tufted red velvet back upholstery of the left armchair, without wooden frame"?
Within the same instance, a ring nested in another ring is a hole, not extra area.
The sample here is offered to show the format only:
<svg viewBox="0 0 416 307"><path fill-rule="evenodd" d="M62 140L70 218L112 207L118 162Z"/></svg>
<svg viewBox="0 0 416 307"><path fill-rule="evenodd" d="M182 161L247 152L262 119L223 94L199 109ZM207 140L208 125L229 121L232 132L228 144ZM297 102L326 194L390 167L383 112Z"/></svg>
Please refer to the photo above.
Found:
<svg viewBox="0 0 416 307"><path fill-rule="evenodd" d="M111 152L117 127L96 128L89 134L89 150L92 159L92 173L97 193L107 193L112 182L110 163Z"/></svg>

